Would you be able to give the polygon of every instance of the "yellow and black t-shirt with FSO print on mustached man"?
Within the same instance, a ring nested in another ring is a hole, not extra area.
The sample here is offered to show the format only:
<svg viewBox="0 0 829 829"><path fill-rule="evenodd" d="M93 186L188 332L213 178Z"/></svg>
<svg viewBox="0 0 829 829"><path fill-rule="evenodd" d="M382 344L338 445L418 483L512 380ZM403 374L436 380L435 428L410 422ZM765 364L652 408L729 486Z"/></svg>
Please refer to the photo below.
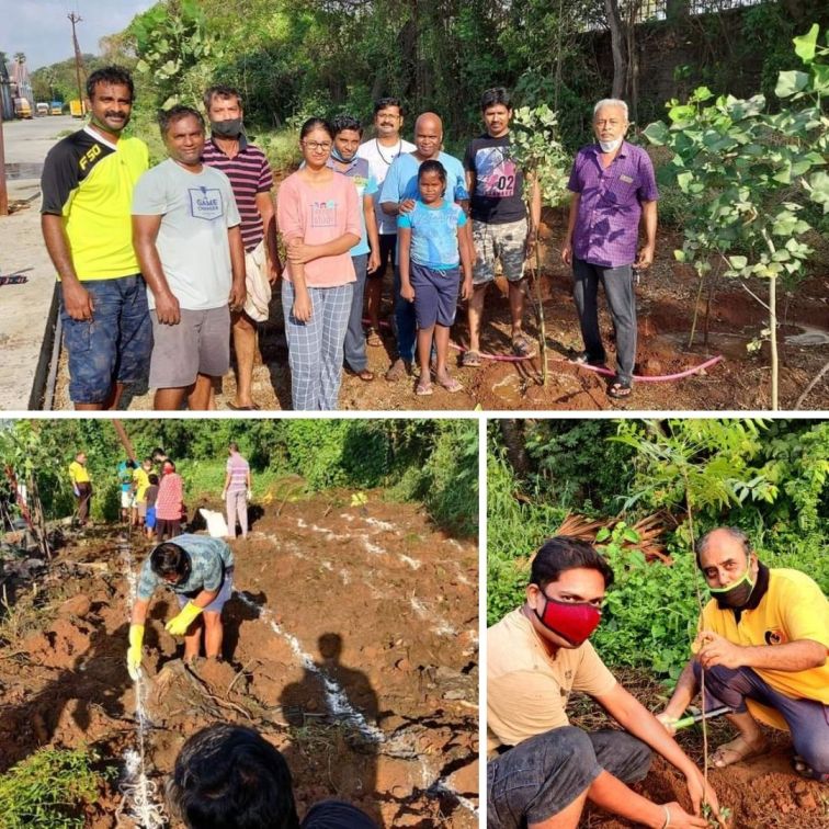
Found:
<svg viewBox="0 0 829 829"><path fill-rule="evenodd" d="M147 145L107 141L92 127L58 141L43 164L41 213L61 216L72 268L81 282L138 273L129 208L149 167Z"/></svg>

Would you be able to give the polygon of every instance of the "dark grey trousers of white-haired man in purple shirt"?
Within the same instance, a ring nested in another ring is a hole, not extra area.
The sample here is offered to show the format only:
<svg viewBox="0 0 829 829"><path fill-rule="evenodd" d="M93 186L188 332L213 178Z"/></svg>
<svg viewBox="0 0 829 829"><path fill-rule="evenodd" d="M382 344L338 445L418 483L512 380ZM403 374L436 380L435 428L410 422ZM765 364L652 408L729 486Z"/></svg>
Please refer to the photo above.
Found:
<svg viewBox="0 0 829 829"><path fill-rule="evenodd" d="M616 374L620 382L631 383L636 361L636 293L633 268L629 264L602 268L574 257L572 275L572 296L579 314L584 351L591 362L604 361L597 304L601 282L616 332Z"/></svg>

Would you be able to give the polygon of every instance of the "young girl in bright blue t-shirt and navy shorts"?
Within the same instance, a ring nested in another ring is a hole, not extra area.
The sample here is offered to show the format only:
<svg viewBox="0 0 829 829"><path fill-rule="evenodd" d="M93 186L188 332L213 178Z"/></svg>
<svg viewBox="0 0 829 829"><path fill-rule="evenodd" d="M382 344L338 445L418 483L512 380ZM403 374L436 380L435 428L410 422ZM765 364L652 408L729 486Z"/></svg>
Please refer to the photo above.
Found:
<svg viewBox="0 0 829 829"><path fill-rule="evenodd" d="M461 228L466 214L444 198L446 170L440 161L424 161L418 170L420 198L409 213L397 218L397 246L400 266L400 296L414 303L418 320L420 381L416 394L431 395L429 360L432 339L436 351L435 379L447 391L459 391L461 384L450 376L448 332L455 321L461 269L464 282L461 296L472 296L472 261Z"/></svg>

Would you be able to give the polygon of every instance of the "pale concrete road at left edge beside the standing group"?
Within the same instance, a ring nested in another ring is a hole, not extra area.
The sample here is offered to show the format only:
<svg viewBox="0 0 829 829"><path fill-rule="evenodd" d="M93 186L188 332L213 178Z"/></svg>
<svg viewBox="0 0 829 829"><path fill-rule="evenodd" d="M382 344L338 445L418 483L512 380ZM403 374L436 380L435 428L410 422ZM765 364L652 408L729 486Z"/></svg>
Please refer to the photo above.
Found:
<svg viewBox="0 0 829 829"><path fill-rule="evenodd" d="M50 340L55 270L41 236L41 167L49 148L79 126L68 115L3 123L9 204L18 209L0 217L0 274L20 273L26 282L0 281L0 411L29 409L43 344Z"/></svg>

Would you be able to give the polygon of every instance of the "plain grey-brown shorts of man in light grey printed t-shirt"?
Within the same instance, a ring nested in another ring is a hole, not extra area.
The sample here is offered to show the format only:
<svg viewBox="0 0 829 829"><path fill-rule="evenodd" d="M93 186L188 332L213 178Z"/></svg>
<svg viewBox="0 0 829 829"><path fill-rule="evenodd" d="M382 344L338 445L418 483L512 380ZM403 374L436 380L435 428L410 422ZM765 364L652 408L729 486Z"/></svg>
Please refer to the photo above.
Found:
<svg viewBox="0 0 829 829"><path fill-rule="evenodd" d="M151 388L186 388L200 374L222 377L230 368L230 309L181 311L175 326L161 325L150 311L155 345Z"/></svg>

